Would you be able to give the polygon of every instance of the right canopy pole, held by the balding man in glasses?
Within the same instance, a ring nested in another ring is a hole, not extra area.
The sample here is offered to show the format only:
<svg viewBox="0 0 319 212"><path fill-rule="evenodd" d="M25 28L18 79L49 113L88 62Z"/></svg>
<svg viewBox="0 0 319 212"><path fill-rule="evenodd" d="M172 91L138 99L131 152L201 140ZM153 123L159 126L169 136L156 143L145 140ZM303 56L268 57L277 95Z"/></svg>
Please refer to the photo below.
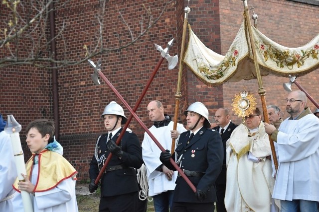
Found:
<svg viewBox="0 0 319 212"><path fill-rule="evenodd" d="M245 16L245 21L248 29L248 34L249 34L249 40L250 40L250 46L251 50L253 53L253 59L254 59L254 65L256 69L256 75L257 75L257 81L259 85L258 93L261 98L261 103L262 103L262 108L263 108L263 113L264 113L264 121L269 124L269 117L268 117L268 112L267 112L267 105L266 105L266 90L263 87L263 81L260 75L260 70L259 70L259 65L258 65L258 60L257 60L257 55L256 55L256 49L255 49L255 41L254 41L254 36L253 32L251 29L251 23L250 23L250 17L249 17L249 10L248 10L248 5L247 5L247 0L242 0L244 2L244 16ZM275 145L274 141L271 139L271 136L268 135L269 141L270 141L270 147L271 151L273 154L273 160L274 160L274 165L275 169L277 171L278 169L278 160L277 160L277 155L276 155L276 150L275 150Z"/></svg>

